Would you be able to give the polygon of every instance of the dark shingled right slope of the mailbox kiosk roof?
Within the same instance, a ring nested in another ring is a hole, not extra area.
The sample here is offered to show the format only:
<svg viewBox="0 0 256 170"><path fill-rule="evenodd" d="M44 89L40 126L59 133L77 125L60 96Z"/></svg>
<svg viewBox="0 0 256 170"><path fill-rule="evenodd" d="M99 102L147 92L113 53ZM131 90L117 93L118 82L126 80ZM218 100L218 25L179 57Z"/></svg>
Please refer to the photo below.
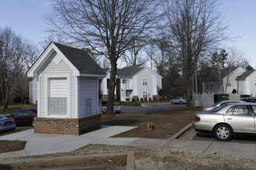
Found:
<svg viewBox="0 0 256 170"><path fill-rule="evenodd" d="M95 63L84 49L76 49L53 42L61 53L80 71L80 73L106 75L106 72Z"/></svg>

